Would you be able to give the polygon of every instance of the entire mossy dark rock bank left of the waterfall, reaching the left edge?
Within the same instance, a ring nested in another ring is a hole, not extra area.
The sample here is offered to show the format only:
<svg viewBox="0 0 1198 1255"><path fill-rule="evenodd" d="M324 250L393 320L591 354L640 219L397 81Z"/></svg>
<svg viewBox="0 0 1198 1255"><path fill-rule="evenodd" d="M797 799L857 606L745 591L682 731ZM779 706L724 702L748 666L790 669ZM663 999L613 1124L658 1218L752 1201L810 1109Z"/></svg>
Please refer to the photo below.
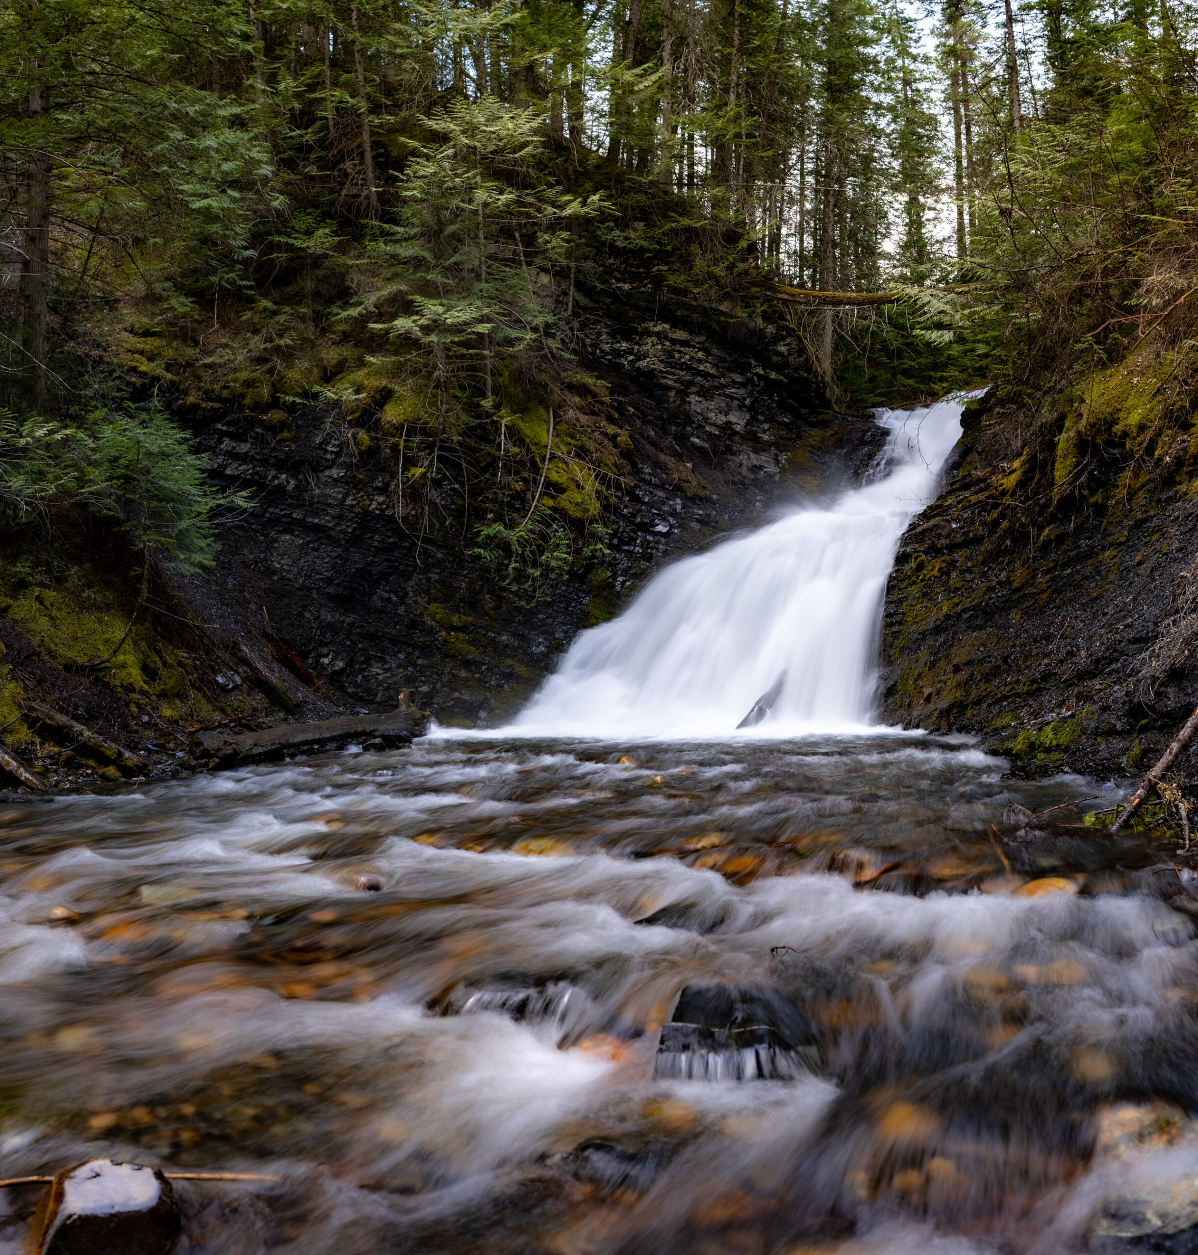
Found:
<svg viewBox="0 0 1198 1255"><path fill-rule="evenodd" d="M491 414L465 425L409 363L352 340L205 388L142 335L127 371L252 507L219 518L212 570L156 563L144 601L119 527L10 531L0 740L48 787L95 787L207 766L188 729L216 720L403 694L443 723L500 722L663 563L846 481L882 439L829 412L782 328L622 289L580 291L570 334L553 399L500 375ZM89 757L30 703L136 766Z"/></svg>

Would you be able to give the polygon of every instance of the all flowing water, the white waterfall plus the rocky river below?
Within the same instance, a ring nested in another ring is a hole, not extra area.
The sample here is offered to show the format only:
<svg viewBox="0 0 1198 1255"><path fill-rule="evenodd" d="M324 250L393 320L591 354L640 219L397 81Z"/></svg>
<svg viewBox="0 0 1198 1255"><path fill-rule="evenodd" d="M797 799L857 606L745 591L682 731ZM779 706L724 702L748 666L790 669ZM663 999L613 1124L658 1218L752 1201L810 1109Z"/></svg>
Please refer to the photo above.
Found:
<svg viewBox="0 0 1198 1255"><path fill-rule="evenodd" d="M514 728L9 804L0 1172L276 1178L181 1182L188 1252L1198 1249L1188 862L1087 823L1110 784L869 727L956 414Z"/></svg>

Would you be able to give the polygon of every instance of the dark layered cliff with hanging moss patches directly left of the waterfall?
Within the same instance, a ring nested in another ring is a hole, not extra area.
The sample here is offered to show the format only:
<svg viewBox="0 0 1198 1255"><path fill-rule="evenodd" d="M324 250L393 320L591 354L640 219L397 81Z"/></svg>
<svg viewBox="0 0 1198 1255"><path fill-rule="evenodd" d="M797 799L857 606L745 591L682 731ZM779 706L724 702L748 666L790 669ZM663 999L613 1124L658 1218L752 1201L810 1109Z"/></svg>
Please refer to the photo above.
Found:
<svg viewBox="0 0 1198 1255"><path fill-rule="evenodd" d="M329 403L345 375L278 410L181 404L212 474L257 501L224 526L215 575L192 584L235 592L247 620L265 609L347 705L387 709L406 690L442 722L495 723L664 562L855 473L877 448L874 424L826 412L780 330L637 292L584 305L575 326L551 446L546 405L510 388L506 461L472 463L468 493L458 461L437 479L427 457L409 461L411 423L394 443L413 403L394 379L372 395L362 366L349 368L367 397L352 417ZM477 456L468 441L451 453ZM519 521L542 467L550 540L526 553L487 521L505 508Z"/></svg>

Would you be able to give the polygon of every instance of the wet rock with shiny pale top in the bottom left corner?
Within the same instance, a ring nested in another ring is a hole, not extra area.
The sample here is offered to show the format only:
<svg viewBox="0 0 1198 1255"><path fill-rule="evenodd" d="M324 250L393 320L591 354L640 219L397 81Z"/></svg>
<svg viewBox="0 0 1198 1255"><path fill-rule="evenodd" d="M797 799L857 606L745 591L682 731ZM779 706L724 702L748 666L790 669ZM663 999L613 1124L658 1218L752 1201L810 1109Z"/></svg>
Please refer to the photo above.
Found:
<svg viewBox="0 0 1198 1255"><path fill-rule="evenodd" d="M180 1234L171 1182L141 1163L90 1160L59 1172L34 1215L26 1255L167 1255Z"/></svg>

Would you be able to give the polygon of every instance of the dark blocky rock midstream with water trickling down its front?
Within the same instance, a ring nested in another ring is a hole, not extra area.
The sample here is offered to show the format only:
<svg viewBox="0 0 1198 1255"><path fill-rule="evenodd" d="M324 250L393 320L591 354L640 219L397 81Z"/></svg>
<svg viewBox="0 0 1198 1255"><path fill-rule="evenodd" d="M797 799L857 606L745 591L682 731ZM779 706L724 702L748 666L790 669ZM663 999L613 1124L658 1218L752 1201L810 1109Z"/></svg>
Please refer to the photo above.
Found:
<svg viewBox="0 0 1198 1255"><path fill-rule="evenodd" d="M653 1074L687 1081L787 1081L810 1068L814 1035L776 994L687 985L662 1025Z"/></svg>

